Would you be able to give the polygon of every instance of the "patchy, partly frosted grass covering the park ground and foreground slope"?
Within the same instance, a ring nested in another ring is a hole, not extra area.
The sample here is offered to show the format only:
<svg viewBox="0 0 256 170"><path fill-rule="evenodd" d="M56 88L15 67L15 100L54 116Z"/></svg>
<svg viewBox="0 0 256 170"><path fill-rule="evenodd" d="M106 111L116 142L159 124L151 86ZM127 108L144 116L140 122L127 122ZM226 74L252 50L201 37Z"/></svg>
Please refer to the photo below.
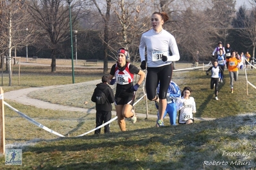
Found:
<svg viewBox="0 0 256 170"><path fill-rule="evenodd" d="M17 67L14 67L13 86L3 86L4 91L69 84L69 96L77 96L72 104L60 95L67 89L32 95L53 103L93 108L92 103L77 102L89 101L92 91L78 88L78 84L71 85L70 68L57 68L56 73L51 73L49 66L26 65L22 69L26 73L22 72L21 84L16 84ZM255 73L255 69L248 70L248 81L254 86ZM102 70L77 69L76 75L76 82L82 83L100 79ZM94 114L38 109L6 101L42 125L70 137L57 137L35 127L6 107L6 146L22 149L22 166L5 166L5 158L1 157L0 169L255 169L256 89L248 86L246 95L244 71L239 72L234 94L230 93L228 72L225 71L219 101L214 100L214 90L209 88L210 76L202 70L174 72L173 81L180 88L191 86L192 97L196 100L196 117L218 119L175 127L166 122L166 127L155 128L154 119L139 118L134 125L126 121L126 132L120 132L114 121L110 134L76 137L95 127ZM7 75L4 75L4 82L8 82ZM95 84L84 88L93 87ZM138 91L137 98L140 95L142 91ZM137 112L144 113L144 108L144 101L136 105ZM149 102L149 113L156 113L152 102Z"/></svg>

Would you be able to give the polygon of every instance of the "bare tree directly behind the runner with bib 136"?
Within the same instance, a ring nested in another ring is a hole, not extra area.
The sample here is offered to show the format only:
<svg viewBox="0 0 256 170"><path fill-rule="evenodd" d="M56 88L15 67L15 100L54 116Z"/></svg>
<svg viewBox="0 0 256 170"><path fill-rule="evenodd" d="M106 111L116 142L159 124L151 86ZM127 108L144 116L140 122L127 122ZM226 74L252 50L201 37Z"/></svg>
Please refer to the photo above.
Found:
<svg viewBox="0 0 256 170"><path fill-rule="evenodd" d="M113 52L116 52L116 48L120 47L129 49L130 58L137 61L139 59L137 49L141 34L149 29L148 9L150 6L147 1L128 1L125 3L124 0L118 0L114 4L113 10L117 17L115 24L117 26L117 43L112 43L111 49L114 49ZM116 59L116 55L114 56Z"/></svg>

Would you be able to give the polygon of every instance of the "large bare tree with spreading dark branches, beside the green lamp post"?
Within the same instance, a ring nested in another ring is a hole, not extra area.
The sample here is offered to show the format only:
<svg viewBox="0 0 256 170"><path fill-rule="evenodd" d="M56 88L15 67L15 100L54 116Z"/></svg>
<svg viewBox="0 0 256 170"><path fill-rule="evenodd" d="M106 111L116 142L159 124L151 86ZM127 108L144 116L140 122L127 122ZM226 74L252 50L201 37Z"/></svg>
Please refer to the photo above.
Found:
<svg viewBox="0 0 256 170"><path fill-rule="evenodd" d="M72 22L77 22L83 6L81 1L71 4ZM65 0L31 0L28 11L35 24L42 47L51 49L51 72L56 71L56 56L62 54L62 42L69 38L69 8ZM83 13L86 15L86 12Z"/></svg>

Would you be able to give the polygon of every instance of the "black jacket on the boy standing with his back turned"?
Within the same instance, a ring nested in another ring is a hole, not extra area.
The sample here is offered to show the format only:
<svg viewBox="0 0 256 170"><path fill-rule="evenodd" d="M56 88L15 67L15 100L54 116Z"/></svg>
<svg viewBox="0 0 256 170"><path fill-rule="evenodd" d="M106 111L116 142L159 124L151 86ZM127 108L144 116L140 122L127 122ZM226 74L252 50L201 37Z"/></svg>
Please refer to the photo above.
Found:
<svg viewBox="0 0 256 170"><path fill-rule="evenodd" d="M112 111L112 103L115 102L115 96L114 96L114 92L112 90L112 88L110 88L110 86L108 86L107 83L99 83L96 85L96 88L94 89L94 93L92 94L92 102L96 102L96 94L98 93L98 91L103 91L103 93L105 93L106 97L108 98L108 100L106 101L105 104L96 104L96 111L105 111L105 112L109 112Z"/></svg>

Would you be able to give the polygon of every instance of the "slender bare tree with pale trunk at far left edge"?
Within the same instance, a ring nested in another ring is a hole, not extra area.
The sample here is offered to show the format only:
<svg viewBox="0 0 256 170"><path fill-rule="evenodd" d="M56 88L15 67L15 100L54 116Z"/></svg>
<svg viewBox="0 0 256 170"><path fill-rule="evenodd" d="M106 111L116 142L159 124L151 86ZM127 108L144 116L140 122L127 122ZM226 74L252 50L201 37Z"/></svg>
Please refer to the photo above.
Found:
<svg viewBox="0 0 256 170"><path fill-rule="evenodd" d="M2 54L6 54L6 68L9 72L9 86L12 86L12 50L21 48L26 42L25 27L30 19L26 3L19 0L1 1L1 43ZM30 29L31 30L31 29ZM2 62L3 60L1 60Z"/></svg>

